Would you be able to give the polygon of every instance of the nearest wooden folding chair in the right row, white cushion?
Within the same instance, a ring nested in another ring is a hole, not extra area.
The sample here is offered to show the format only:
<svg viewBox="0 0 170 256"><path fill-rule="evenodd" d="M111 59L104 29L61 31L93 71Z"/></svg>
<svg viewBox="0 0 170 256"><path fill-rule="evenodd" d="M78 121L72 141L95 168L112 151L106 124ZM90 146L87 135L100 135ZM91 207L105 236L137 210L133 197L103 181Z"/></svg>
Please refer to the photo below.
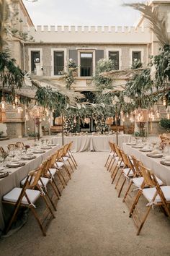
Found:
<svg viewBox="0 0 170 256"><path fill-rule="evenodd" d="M133 220L135 225L138 228L137 235L140 234L141 229L143 228L144 223L146 222L146 218L150 213L151 208L153 206L160 206L164 211L166 216L170 217L170 211L168 205L170 204L170 186L162 186L158 184L156 176L151 174L151 171L148 168L140 165L140 170L143 174L144 182L148 185L148 188L142 187L140 191L140 195L146 197L148 203L146 205L147 210L144 216L141 218L141 213L138 214L138 210L133 211Z"/></svg>

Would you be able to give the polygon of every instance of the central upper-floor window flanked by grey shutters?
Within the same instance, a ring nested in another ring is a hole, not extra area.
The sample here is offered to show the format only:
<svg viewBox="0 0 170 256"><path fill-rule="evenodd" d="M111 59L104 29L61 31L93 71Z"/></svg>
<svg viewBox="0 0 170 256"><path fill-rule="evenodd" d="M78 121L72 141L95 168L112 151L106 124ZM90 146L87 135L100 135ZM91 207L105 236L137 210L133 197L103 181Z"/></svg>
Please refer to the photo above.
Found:
<svg viewBox="0 0 170 256"><path fill-rule="evenodd" d="M92 53L80 53L80 67L81 77L91 77L93 72Z"/></svg>

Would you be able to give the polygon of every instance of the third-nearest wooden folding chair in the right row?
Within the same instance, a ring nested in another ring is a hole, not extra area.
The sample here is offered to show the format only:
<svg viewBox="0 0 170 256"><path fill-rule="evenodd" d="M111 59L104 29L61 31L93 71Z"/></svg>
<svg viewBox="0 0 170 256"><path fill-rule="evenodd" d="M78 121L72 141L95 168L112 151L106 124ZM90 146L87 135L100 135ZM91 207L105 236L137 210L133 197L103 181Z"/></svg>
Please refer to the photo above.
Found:
<svg viewBox="0 0 170 256"><path fill-rule="evenodd" d="M117 179L115 189L117 189L117 187L118 187L120 178L122 176L124 176L124 179L123 179L122 185L120 186L120 191L118 192L118 197L120 197L120 194L122 192L123 186L125 185L125 182L126 181L128 182L129 179L132 179L135 176L135 169L133 168L133 164L130 161L130 158L123 150L120 150L120 153L122 155L122 161L124 163L124 167L122 168L122 170L120 172L120 176Z"/></svg>

